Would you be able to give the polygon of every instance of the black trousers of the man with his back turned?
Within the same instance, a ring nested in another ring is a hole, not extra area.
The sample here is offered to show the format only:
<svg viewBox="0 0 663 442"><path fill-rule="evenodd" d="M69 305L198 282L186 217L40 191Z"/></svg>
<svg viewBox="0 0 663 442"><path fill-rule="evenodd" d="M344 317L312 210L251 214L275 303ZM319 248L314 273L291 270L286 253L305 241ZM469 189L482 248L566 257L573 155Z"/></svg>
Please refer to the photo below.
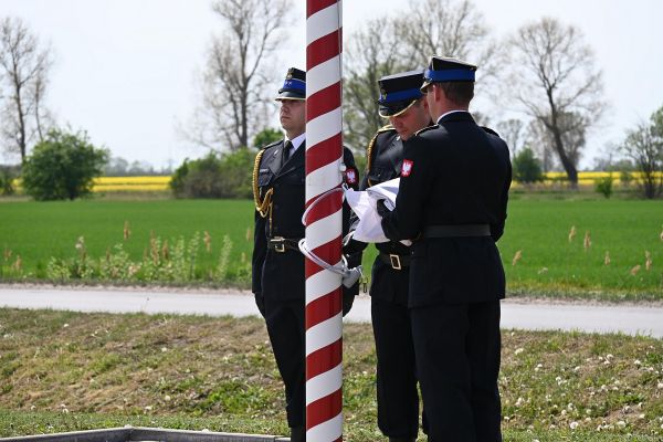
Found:
<svg viewBox="0 0 663 442"><path fill-rule="evenodd" d="M429 442L499 442L499 301L411 308Z"/></svg>

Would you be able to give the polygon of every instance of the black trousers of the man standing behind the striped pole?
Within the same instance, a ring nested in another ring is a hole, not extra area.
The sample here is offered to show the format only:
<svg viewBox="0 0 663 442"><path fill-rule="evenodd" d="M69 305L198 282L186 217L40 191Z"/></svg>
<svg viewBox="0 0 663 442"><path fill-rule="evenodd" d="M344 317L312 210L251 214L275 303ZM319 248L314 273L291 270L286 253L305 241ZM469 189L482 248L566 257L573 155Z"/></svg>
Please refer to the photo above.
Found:
<svg viewBox="0 0 663 442"><path fill-rule="evenodd" d="M265 322L276 366L285 385L287 425L304 427L306 422L304 299L265 298Z"/></svg>

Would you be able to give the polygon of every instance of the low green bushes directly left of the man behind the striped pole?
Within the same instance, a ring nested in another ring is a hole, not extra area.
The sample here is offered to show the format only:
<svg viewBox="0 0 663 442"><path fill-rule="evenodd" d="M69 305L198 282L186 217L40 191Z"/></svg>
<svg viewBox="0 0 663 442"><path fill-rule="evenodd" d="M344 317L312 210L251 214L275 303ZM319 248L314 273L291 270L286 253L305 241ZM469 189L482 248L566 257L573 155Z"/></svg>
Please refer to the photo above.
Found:
<svg viewBox="0 0 663 442"><path fill-rule="evenodd" d="M177 198L251 198L255 152L241 148L221 157L185 160L170 188Z"/></svg>

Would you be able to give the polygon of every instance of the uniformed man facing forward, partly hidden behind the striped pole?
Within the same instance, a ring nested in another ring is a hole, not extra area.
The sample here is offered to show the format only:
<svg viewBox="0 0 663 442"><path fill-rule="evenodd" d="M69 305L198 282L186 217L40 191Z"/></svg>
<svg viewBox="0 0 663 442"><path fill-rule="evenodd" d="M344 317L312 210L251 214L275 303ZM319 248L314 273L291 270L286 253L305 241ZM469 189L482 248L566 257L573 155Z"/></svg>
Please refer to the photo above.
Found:
<svg viewBox="0 0 663 442"><path fill-rule="evenodd" d="M255 233L253 284L257 307L265 318L274 358L285 383L291 440L305 440L304 255L297 246L304 238L305 204L306 74L292 67L278 91L281 125L285 139L264 147L255 158L253 196ZM359 175L352 154L344 149L345 182L358 187ZM344 232L350 210L344 204ZM349 261L360 262L360 254ZM344 287L346 314L358 284Z"/></svg>

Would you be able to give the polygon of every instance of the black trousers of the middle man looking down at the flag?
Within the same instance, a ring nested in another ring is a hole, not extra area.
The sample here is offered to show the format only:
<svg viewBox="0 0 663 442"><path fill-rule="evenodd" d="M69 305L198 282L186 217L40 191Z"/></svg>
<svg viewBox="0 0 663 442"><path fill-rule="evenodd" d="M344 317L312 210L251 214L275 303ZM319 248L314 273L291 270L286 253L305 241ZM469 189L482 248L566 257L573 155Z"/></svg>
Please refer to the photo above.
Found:
<svg viewBox="0 0 663 442"><path fill-rule="evenodd" d="M378 428L390 438L417 438L419 392L408 306L371 298L376 339Z"/></svg>

